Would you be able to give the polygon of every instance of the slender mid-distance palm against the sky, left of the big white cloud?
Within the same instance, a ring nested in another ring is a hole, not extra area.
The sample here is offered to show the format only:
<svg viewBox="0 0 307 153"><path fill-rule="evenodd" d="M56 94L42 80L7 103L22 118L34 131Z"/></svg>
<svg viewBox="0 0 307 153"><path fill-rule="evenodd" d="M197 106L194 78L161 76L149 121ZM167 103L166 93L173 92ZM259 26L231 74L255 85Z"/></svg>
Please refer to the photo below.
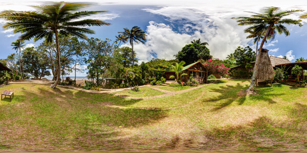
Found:
<svg viewBox="0 0 307 153"><path fill-rule="evenodd" d="M131 30L124 28L123 32L118 32L120 33L122 36L121 37L121 41L126 42L129 39L129 43L132 47L132 66L134 66L134 52L133 52L133 42L141 42L141 43L145 43L146 41L146 34L145 32L138 26L133 27Z"/></svg>

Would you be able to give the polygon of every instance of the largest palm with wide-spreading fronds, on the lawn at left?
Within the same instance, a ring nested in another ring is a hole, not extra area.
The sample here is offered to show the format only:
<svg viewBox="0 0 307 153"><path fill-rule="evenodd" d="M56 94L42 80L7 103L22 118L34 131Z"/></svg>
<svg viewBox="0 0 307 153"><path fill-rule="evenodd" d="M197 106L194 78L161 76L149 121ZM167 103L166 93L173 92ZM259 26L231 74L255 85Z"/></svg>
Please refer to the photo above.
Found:
<svg viewBox="0 0 307 153"><path fill-rule="evenodd" d="M88 6L82 3L52 3L51 5L34 6L36 11L3 11L0 18L9 20L3 27L5 29L14 29L14 33L21 33L20 40L34 41L45 38L51 43L55 36L57 50L57 78L50 87L55 88L60 79L60 48L59 35L76 36L81 39L87 39L85 34L94 34L93 30L81 28L84 26L108 25L98 19L82 19L106 11L78 11Z"/></svg>

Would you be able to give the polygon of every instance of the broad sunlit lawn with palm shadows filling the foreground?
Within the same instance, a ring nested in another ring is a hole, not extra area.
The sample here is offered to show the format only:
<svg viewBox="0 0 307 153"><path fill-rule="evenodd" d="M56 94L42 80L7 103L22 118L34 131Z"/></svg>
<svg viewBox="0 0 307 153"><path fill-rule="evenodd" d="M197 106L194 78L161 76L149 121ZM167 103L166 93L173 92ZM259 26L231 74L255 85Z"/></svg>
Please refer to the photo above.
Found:
<svg viewBox="0 0 307 153"><path fill-rule="evenodd" d="M137 100L8 85L0 88L14 92L0 102L0 150L307 151L307 89L273 84L240 94L248 85L222 80ZM136 109L170 107L179 108Z"/></svg>

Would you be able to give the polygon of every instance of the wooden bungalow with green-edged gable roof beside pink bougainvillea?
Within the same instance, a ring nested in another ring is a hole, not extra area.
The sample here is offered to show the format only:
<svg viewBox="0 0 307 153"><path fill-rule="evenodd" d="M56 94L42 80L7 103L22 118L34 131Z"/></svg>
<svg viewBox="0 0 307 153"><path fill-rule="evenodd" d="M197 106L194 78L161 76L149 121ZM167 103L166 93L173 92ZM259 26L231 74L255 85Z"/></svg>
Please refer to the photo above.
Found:
<svg viewBox="0 0 307 153"><path fill-rule="evenodd" d="M205 67L201 62L195 62L183 67L182 72L187 73L187 75L183 75L180 80L183 82L187 82L192 76L196 81L202 83L204 78L206 77ZM170 75L176 75L173 71L165 71L165 79L169 79Z"/></svg>

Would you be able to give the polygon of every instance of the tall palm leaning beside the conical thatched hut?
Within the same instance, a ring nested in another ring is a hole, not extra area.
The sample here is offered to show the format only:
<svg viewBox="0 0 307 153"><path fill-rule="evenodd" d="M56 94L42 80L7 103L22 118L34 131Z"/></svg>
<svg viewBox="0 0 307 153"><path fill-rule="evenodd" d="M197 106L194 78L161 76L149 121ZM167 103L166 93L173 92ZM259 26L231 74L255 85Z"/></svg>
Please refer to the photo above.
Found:
<svg viewBox="0 0 307 153"><path fill-rule="evenodd" d="M236 17L234 19L237 20L238 25L252 25L252 27L248 29L256 29L256 27L264 27L266 29L266 33L264 34L264 38L261 41L261 44L259 46L259 50L262 50L262 46L264 45L266 39L268 36L271 36L271 38L274 38L275 31L278 32L278 34L285 34L286 36L289 36L289 30L284 27L282 24L294 24L302 26L301 20L294 20L290 18L282 19L284 16L301 12L302 10L288 10L288 11L280 11L280 8L277 7L267 7L261 10L261 13L254 13L251 15L252 17ZM246 30L248 30L246 29ZM270 39L270 37L268 37ZM257 56L256 63L254 66L254 72L251 80L251 85L247 89L247 91L251 91L255 87L255 76L257 74L257 67L258 67L258 61L259 56Z"/></svg>

